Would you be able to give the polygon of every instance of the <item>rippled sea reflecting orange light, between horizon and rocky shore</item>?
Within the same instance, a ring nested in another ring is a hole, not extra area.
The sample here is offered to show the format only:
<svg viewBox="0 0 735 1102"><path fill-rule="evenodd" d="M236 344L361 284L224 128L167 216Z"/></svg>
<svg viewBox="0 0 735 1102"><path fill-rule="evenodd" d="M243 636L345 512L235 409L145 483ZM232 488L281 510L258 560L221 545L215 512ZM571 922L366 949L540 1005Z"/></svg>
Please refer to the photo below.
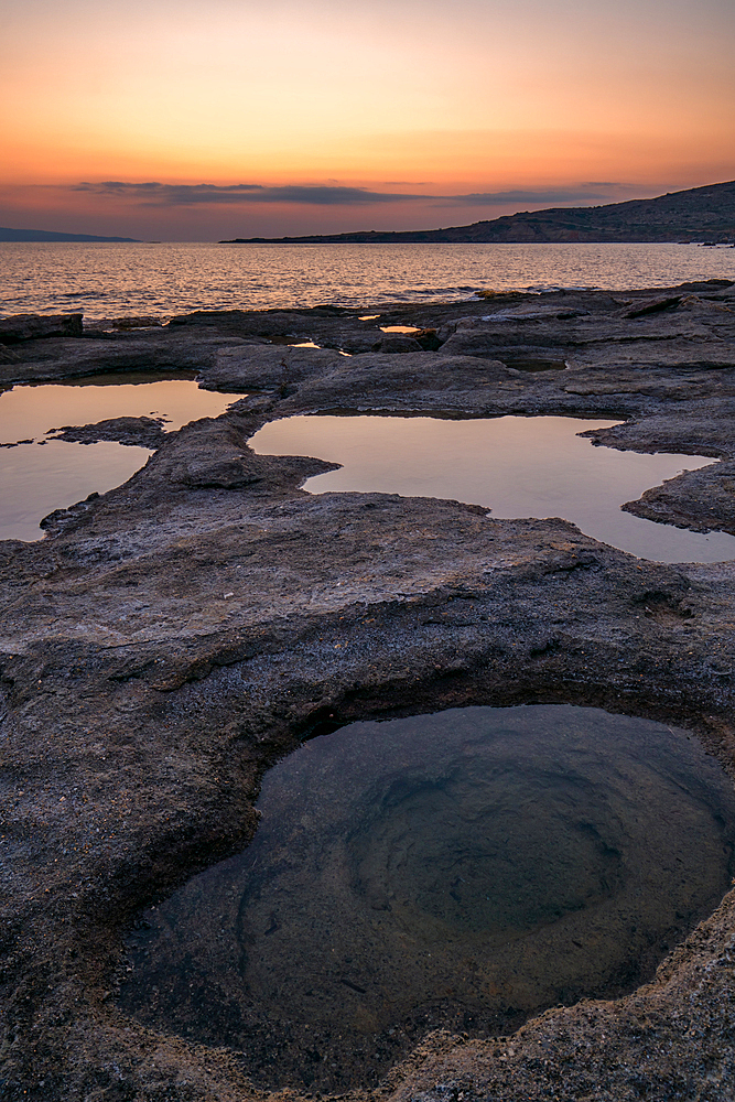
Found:
<svg viewBox="0 0 735 1102"><path fill-rule="evenodd" d="M89 320L191 310L471 299L479 289L633 289L735 279L695 245L0 244L0 313Z"/></svg>

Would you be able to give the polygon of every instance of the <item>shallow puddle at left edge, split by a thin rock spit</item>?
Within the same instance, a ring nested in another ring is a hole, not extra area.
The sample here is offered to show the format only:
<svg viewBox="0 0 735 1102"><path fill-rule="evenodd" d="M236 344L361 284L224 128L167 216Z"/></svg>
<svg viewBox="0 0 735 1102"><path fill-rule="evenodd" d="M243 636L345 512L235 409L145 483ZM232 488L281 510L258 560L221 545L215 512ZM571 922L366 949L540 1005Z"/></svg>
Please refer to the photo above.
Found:
<svg viewBox="0 0 735 1102"><path fill-rule="evenodd" d="M242 395L201 390L193 372L99 375L0 392L0 540L40 540L39 521L54 509L104 494L143 466L151 451L100 441L48 440L51 429L94 424L117 417L162 417L167 432L188 421L218 417Z"/></svg>

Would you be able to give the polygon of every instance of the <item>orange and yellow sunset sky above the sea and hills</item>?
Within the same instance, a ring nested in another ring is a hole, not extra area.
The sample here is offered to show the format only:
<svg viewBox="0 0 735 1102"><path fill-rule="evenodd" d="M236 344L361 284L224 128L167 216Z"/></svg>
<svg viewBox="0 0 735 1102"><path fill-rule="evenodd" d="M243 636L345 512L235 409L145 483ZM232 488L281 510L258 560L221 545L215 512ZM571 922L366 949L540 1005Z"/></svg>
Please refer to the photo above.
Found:
<svg viewBox="0 0 735 1102"><path fill-rule="evenodd" d="M735 179L733 0L3 0L0 225L431 229Z"/></svg>

